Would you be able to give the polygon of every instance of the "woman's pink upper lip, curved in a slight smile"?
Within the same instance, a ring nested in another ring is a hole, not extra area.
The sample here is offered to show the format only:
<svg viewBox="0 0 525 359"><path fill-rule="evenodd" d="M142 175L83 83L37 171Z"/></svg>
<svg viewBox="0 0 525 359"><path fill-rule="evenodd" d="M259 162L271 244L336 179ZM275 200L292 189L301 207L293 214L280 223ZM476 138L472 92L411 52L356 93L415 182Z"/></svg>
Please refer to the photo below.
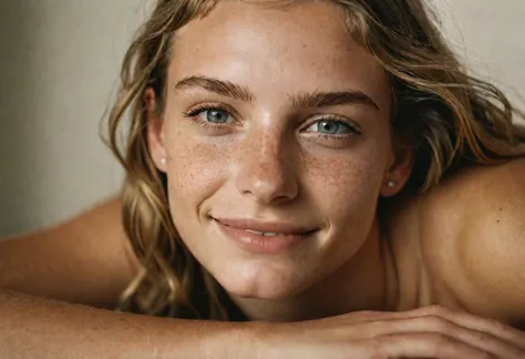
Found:
<svg viewBox="0 0 525 359"><path fill-rule="evenodd" d="M216 218L215 220L220 224L235 227L239 229L248 229L264 233L278 233L278 234L307 234L316 230L317 228L307 227L302 225L292 224L289 222L265 222L254 218Z"/></svg>

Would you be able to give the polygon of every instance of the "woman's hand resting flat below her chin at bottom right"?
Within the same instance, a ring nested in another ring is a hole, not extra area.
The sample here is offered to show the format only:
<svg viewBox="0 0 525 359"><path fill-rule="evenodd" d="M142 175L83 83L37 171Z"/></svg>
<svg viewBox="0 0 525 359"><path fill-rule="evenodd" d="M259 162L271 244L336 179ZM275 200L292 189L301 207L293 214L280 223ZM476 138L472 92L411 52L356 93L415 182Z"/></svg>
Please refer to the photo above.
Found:
<svg viewBox="0 0 525 359"><path fill-rule="evenodd" d="M269 329L261 358L525 358L525 332L437 306L359 311Z"/></svg>

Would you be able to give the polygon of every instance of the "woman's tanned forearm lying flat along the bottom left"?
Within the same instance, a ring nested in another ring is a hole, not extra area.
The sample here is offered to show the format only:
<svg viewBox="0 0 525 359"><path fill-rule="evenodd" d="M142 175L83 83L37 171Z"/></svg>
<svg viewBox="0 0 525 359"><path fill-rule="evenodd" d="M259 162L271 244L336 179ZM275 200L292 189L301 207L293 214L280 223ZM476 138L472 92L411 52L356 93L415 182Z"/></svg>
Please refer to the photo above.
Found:
<svg viewBox="0 0 525 359"><path fill-rule="evenodd" d="M0 352L22 358L248 358L251 324L121 314L0 290Z"/></svg>

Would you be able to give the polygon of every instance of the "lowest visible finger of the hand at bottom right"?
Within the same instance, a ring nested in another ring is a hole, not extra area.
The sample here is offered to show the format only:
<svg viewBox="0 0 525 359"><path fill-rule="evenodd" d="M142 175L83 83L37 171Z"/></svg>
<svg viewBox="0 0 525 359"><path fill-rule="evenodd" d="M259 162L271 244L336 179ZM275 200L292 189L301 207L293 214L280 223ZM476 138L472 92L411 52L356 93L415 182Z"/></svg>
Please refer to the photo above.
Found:
<svg viewBox="0 0 525 359"><path fill-rule="evenodd" d="M497 359L491 352L450 336L428 332L384 336L371 348L373 358Z"/></svg>

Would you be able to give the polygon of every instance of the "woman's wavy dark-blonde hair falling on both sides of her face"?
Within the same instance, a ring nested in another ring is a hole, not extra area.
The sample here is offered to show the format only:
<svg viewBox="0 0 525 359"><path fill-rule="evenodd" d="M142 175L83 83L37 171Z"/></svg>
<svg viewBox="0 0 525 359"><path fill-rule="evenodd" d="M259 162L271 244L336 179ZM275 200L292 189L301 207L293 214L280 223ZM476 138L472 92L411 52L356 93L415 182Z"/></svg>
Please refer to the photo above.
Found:
<svg viewBox="0 0 525 359"><path fill-rule="evenodd" d="M494 85L467 74L422 0L326 1L344 12L349 37L368 49L391 76L394 142L414 153L405 191L426 192L459 167L525 154L524 133L513 125L513 117L523 115ZM123 223L143 270L123 293L120 310L215 320L233 317L227 296L173 225L166 177L148 153L143 102L145 90L153 89L162 114L173 34L193 19L206 17L216 3L157 0L123 61L107 142L125 168ZM122 137L125 120L131 123Z"/></svg>

